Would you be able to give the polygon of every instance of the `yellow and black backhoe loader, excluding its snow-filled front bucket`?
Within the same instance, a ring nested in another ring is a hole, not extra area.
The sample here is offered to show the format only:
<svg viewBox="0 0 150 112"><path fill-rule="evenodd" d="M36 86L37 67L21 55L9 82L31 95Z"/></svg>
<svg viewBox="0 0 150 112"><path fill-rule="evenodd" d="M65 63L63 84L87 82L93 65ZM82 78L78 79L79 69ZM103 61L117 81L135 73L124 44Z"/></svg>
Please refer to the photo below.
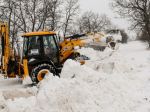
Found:
<svg viewBox="0 0 150 112"><path fill-rule="evenodd" d="M29 32L22 37L23 51L18 57L10 46L7 23L0 23L2 49L0 70L6 78L18 76L24 80L30 76L34 83L41 81L49 72L59 76L65 60L79 55L74 47L83 45L80 40L64 40L59 43L58 36L51 31Z"/></svg>

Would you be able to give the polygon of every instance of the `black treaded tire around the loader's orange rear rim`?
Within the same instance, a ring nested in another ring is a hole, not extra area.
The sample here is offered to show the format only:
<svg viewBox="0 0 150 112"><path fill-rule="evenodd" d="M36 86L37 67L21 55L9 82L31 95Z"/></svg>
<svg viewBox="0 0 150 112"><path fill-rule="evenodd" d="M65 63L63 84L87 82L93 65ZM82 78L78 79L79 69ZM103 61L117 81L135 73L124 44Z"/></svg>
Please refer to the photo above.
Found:
<svg viewBox="0 0 150 112"><path fill-rule="evenodd" d="M41 70L48 70L50 73L52 73L54 76L56 75L56 70L55 68L53 67L53 65L50 65L50 64L39 64L37 66L35 66L32 71L31 71L31 74L30 74L30 77L33 81L33 83L38 83L39 80L38 80L38 73L41 71ZM43 76L43 78L45 77L45 75Z"/></svg>

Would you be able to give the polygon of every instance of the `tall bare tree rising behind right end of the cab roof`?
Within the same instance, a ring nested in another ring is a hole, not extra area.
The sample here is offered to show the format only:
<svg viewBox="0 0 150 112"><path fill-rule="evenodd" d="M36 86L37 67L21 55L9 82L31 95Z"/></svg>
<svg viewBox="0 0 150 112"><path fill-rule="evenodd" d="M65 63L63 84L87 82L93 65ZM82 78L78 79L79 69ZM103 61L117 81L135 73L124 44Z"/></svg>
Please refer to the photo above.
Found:
<svg viewBox="0 0 150 112"><path fill-rule="evenodd" d="M47 27L49 30L57 30L60 28L62 18L62 0L44 0L44 15L45 18L43 28ZM43 11L42 11L43 12Z"/></svg>

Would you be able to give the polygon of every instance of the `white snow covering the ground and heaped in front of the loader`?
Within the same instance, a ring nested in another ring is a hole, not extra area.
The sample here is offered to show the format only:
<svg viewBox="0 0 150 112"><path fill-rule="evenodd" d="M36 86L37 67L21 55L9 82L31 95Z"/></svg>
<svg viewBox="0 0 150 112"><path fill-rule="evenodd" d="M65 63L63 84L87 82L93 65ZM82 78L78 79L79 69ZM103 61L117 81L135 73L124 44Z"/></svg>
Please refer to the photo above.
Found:
<svg viewBox="0 0 150 112"><path fill-rule="evenodd" d="M37 87L0 77L0 112L149 112L150 51L139 41L104 52L82 48L85 65L67 60L61 78Z"/></svg>

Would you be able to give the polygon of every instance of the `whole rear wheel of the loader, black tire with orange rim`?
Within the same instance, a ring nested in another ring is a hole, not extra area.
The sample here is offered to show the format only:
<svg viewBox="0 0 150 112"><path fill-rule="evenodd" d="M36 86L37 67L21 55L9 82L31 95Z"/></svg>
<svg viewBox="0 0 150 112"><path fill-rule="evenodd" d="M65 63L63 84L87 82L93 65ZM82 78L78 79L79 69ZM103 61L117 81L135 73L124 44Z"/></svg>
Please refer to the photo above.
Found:
<svg viewBox="0 0 150 112"><path fill-rule="evenodd" d="M34 83L38 83L44 79L45 75L52 73L56 75L56 70L53 65L50 64L40 64L35 66L31 71L31 79Z"/></svg>

